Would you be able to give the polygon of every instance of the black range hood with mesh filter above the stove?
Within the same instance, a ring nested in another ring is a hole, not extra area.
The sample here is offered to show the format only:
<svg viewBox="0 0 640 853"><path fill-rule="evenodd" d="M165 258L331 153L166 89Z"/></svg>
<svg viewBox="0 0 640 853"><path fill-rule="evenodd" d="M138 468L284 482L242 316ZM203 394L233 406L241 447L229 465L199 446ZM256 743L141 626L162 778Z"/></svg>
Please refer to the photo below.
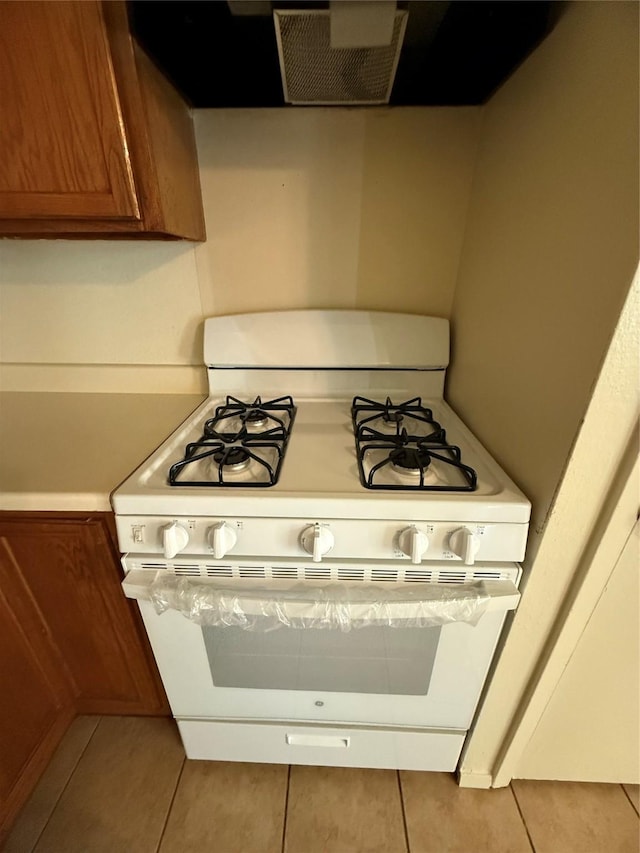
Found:
<svg viewBox="0 0 640 853"><path fill-rule="evenodd" d="M129 0L194 107L484 103L553 28L551 0Z"/></svg>

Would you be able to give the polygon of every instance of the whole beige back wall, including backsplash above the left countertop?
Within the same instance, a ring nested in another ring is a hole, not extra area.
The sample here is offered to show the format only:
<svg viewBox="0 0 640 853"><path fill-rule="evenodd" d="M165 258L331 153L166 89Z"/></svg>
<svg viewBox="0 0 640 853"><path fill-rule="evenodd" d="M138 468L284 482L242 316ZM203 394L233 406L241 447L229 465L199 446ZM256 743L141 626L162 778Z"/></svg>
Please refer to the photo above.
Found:
<svg viewBox="0 0 640 853"><path fill-rule="evenodd" d="M205 244L0 241L0 385L198 390L168 368L201 364L212 314L448 316L479 109L205 110L196 128Z"/></svg>

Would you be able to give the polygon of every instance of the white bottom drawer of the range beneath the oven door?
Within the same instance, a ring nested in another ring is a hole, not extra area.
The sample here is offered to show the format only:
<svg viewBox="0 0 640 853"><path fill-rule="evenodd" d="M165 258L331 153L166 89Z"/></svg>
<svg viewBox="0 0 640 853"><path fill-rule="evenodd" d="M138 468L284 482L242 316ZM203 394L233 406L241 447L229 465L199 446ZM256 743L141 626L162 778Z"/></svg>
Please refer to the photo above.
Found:
<svg viewBox="0 0 640 853"><path fill-rule="evenodd" d="M466 732L178 719L187 758L392 770L455 770Z"/></svg>

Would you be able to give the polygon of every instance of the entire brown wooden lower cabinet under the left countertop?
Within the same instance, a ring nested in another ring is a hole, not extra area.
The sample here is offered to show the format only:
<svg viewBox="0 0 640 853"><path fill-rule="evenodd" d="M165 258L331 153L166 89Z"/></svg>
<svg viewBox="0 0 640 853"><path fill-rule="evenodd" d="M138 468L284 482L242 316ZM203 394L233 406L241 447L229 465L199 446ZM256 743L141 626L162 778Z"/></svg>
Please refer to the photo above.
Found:
<svg viewBox="0 0 640 853"><path fill-rule="evenodd" d="M76 713L168 715L109 513L0 512L0 843Z"/></svg>

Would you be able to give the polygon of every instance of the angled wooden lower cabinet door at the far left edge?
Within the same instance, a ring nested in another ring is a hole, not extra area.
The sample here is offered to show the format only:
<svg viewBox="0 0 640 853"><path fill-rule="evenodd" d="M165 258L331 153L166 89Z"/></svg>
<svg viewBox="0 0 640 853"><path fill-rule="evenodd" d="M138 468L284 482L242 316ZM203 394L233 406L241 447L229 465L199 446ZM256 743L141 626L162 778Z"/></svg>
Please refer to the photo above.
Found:
<svg viewBox="0 0 640 853"><path fill-rule="evenodd" d="M41 614L0 538L0 842L73 716Z"/></svg>

